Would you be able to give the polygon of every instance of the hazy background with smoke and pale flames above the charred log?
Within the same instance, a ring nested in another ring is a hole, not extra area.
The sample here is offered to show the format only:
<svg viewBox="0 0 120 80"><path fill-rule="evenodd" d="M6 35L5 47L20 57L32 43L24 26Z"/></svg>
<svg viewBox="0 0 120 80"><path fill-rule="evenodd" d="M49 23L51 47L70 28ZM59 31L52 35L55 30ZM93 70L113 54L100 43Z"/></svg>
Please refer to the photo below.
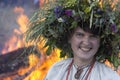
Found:
<svg viewBox="0 0 120 80"><path fill-rule="evenodd" d="M39 0L0 0L0 55L23 46L18 39L39 7Z"/></svg>

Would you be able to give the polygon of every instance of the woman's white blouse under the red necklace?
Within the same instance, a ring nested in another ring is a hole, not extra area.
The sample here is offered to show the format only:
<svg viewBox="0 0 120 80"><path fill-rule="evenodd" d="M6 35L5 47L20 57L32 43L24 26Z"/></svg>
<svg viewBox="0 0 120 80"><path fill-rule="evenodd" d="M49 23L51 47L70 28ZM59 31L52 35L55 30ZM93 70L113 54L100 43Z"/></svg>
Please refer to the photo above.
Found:
<svg viewBox="0 0 120 80"><path fill-rule="evenodd" d="M72 58L68 58L55 63L48 71L44 80L66 80L68 67L71 61ZM80 78L75 79L74 76L77 69L74 65L72 65L68 80L84 80L87 69L88 67L85 67L80 75ZM120 76L107 65L96 61L90 75L88 76L88 80L120 80Z"/></svg>

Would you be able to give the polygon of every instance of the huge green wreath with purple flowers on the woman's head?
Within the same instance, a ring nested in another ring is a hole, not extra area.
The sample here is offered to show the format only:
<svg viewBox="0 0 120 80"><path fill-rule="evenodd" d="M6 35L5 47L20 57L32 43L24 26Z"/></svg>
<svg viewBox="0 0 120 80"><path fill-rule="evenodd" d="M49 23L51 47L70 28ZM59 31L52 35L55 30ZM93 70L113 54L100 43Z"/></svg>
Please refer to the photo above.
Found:
<svg viewBox="0 0 120 80"><path fill-rule="evenodd" d="M60 57L72 57L66 34L77 26L79 20L88 21L90 28L94 25L103 32L96 59L108 59L116 67L120 64L120 10L117 4L112 4L113 1L49 0L31 18L26 41L38 42L44 37L47 54L59 48Z"/></svg>

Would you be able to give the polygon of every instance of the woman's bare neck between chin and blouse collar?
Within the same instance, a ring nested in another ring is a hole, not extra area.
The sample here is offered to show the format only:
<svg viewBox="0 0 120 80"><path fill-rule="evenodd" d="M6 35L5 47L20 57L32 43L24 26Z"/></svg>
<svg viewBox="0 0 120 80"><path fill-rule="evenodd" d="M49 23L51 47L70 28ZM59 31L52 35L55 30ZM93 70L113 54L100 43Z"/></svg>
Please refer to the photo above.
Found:
<svg viewBox="0 0 120 80"><path fill-rule="evenodd" d="M79 68L82 68L84 66L91 64L91 62L94 60L94 58L91 58L88 60L77 59L77 58L73 58L73 59L74 59L73 64L77 65L77 67L79 67Z"/></svg>

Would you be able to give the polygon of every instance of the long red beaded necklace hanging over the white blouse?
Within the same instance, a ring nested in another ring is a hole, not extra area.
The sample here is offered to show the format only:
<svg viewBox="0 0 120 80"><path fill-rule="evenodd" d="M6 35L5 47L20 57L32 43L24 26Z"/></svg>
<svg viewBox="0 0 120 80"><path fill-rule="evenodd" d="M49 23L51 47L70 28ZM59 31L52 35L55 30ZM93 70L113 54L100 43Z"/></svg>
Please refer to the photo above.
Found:
<svg viewBox="0 0 120 80"><path fill-rule="evenodd" d="M95 64L95 60L92 61L90 67L88 68L88 73L86 74L85 80L88 79L88 76L89 76L90 72L92 71L92 68L93 68L94 64ZM68 67L68 72L67 72L66 80L68 80L68 77L69 77L69 74L70 74L70 70L71 70L71 68L72 68L72 65L73 65L73 60L72 60L72 62L70 63L70 65L69 65L69 67Z"/></svg>

